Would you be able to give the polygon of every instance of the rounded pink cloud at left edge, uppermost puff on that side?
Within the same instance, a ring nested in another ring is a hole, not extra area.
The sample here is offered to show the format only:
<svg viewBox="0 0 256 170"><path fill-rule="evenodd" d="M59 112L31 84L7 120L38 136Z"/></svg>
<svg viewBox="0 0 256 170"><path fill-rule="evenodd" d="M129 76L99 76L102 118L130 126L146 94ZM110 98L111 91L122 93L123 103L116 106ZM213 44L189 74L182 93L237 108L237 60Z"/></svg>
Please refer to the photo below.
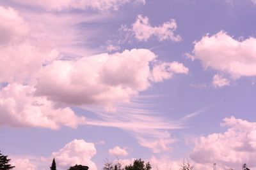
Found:
<svg viewBox="0 0 256 170"><path fill-rule="evenodd" d="M13 8L0 6L0 45L20 41L28 34L28 25Z"/></svg>

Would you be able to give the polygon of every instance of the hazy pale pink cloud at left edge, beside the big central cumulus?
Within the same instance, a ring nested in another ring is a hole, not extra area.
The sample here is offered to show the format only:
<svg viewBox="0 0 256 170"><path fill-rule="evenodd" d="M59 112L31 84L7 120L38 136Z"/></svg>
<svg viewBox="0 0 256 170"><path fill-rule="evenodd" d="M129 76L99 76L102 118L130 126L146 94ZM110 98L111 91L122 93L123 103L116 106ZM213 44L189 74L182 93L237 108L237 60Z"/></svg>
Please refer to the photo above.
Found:
<svg viewBox="0 0 256 170"><path fill-rule="evenodd" d="M57 50L37 48L30 43L2 46L0 50L0 82L28 82L44 62L59 55Z"/></svg>

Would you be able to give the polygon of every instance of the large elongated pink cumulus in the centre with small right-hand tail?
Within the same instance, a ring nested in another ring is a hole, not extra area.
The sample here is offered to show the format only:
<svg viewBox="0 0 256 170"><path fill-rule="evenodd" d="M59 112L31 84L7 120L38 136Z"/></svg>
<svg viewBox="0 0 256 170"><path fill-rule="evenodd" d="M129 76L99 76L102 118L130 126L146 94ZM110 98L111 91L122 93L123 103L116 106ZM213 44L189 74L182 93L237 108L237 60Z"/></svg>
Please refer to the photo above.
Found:
<svg viewBox="0 0 256 170"><path fill-rule="evenodd" d="M153 70L159 67L154 65L155 61L156 55L146 49L102 53L76 61L56 60L38 73L36 95L58 103L112 106L130 101L152 82L170 78L169 74L188 71L177 62L166 63L157 73L153 71L157 78L152 81L150 64Z"/></svg>

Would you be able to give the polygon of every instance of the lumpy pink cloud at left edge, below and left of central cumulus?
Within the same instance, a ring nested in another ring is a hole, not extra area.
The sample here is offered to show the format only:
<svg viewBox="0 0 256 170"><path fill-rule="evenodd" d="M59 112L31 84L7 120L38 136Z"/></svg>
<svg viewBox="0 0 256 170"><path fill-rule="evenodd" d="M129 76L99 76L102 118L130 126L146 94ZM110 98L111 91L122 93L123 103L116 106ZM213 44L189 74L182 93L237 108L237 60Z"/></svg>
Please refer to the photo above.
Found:
<svg viewBox="0 0 256 170"><path fill-rule="evenodd" d="M64 125L76 128L85 122L70 108L54 108L45 97L35 97L35 88L17 83L0 89L0 125L59 129Z"/></svg>

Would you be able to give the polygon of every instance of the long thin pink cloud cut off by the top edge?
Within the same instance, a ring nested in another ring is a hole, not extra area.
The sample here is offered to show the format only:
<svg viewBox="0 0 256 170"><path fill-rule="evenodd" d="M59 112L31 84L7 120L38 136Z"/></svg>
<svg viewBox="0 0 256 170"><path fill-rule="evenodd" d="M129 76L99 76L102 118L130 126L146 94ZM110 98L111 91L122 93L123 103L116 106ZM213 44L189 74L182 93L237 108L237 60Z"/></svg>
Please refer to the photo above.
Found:
<svg viewBox="0 0 256 170"><path fill-rule="evenodd" d="M12 0L17 3L29 4L33 6L41 6L47 10L71 10L79 9L86 10L92 8L93 10L118 10L118 8L126 3L144 3L145 0Z"/></svg>

